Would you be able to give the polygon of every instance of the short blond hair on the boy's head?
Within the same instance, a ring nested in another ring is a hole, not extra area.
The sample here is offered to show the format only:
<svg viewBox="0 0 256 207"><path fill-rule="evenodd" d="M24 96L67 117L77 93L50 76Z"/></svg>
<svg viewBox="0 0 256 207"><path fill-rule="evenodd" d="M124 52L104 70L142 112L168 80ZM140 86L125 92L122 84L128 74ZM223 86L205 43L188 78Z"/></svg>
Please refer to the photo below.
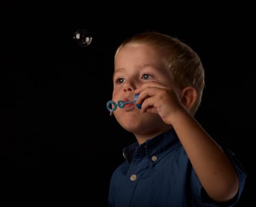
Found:
<svg viewBox="0 0 256 207"><path fill-rule="evenodd" d="M165 66L176 86L181 89L187 86L196 89L197 100L190 110L190 114L196 114L201 104L204 89L204 68L197 53L178 38L148 31L124 40L117 48L114 57L124 46L137 46L139 44L147 44L161 51Z"/></svg>

